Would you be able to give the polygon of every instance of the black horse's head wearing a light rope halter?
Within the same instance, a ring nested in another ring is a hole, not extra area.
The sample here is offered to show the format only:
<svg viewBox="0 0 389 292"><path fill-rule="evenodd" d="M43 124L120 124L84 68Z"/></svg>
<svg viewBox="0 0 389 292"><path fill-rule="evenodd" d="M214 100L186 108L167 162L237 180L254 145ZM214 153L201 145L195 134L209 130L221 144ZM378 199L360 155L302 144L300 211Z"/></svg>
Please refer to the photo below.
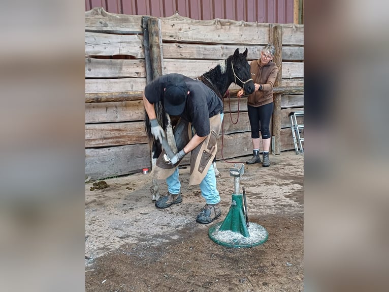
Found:
<svg viewBox="0 0 389 292"><path fill-rule="evenodd" d="M230 78L234 80L235 84L241 86L246 94L251 94L255 90L254 82L250 75L250 65L247 62L247 48L243 53L239 53L239 49L236 49L231 57Z"/></svg>

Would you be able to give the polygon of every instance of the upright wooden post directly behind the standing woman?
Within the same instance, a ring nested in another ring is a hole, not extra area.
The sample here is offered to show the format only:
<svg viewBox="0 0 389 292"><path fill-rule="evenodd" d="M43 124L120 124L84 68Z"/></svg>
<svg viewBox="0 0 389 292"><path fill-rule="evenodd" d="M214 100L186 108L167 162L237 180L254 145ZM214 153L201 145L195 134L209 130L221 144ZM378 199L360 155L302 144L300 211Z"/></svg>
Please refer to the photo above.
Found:
<svg viewBox="0 0 389 292"><path fill-rule="evenodd" d="M281 86L282 80L282 26L281 25L271 25L272 39L271 43L276 48L276 54L274 55L273 62L276 63L278 67L277 78L274 83L274 87ZM273 138L274 138L274 151L273 154L281 154L281 94L273 94L274 99L274 109L273 109Z"/></svg>

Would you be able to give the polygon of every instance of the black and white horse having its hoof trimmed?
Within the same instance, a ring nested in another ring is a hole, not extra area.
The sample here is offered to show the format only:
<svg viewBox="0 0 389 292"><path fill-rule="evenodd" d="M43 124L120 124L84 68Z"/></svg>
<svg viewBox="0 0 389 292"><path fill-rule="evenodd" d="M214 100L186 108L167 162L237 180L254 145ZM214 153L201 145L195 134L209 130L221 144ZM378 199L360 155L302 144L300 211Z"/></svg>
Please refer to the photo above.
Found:
<svg viewBox="0 0 389 292"><path fill-rule="evenodd" d="M227 57L227 59L222 60L216 67L195 79L202 81L205 85L210 87L221 100L223 100L223 97L233 82L241 86L246 94L253 93L255 89L254 82L250 78L250 65L247 62L247 48L243 53L239 52L239 48L236 49L234 54ZM178 117L167 114L160 102L154 104L154 109L157 121L165 130L171 149L177 153L174 142L173 126L178 121ZM154 166L159 154L162 152L162 148L160 142L155 140L154 136L151 134L150 120L146 111L144 122L146 136L151 145L151 152L153 153L152 166ZM220 172L216 167L216 157L212 163L215 169L215 176L220 177ZM156 179L152 180L150 192L152 194L152 201L159 198L159 187Z"/></svg>

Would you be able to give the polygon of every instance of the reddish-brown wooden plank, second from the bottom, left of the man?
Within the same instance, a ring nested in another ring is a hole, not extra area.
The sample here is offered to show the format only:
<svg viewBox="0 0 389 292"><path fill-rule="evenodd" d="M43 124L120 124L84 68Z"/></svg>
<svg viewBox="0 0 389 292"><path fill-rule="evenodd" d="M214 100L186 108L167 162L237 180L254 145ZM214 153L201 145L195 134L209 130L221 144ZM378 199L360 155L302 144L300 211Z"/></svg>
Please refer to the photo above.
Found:
<svg viewBox="0 0 389 292"><path fill-rule="evenodd" d="M85 148L147 143L143 122L85 125Z"/></svg>

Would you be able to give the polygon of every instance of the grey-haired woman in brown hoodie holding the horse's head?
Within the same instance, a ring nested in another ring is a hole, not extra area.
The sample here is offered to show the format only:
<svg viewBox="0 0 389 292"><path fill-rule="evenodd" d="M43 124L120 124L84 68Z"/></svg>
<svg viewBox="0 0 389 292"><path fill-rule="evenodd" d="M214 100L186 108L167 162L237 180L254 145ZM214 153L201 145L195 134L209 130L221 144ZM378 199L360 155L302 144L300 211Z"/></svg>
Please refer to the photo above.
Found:
<svg viewBox="0 0 389 292"><path fill-rule="evenodd" d="M250 64L251 77L254 81L255 91L247 98L248 118L251 126L251 140L253 156L246 161L247 164L261 163L260 157L260 131L264 151L262 153L262 166L270 166L270 119L273 113L273 84L276 81L278 68L272 62L276 48L267 44L261 51L261 57ZM237 94L238 98L244 94L243 89Z"/></svg>

